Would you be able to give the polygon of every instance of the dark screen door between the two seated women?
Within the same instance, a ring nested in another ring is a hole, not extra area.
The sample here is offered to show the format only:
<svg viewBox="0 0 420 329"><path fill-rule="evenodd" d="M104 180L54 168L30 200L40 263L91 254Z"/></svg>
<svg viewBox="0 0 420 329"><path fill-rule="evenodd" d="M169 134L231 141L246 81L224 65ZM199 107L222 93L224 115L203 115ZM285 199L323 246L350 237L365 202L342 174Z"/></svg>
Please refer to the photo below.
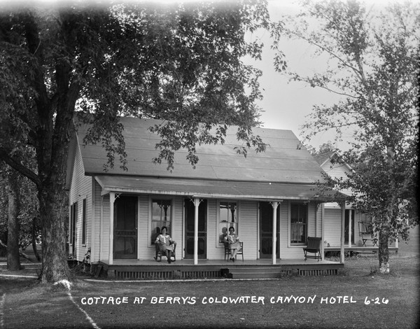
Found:
<svg viewBox="0 0 420 329"><path fill-rule="evenodd" d="M184 201L186 223L186 253L185 258L194 258L194 202L190 199ZM202 200L198 207L198 258L207 258L207 200Z"/></svg>

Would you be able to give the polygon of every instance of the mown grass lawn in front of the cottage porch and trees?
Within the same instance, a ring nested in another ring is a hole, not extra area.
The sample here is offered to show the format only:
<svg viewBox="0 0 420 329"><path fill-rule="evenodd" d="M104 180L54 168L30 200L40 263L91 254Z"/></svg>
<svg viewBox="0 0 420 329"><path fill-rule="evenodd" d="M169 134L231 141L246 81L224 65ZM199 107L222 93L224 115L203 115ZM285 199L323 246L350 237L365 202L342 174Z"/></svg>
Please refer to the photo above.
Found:
<svg viewBox="0 0 420 329"><path fill-rule="evenodd" d="M377 256L363 256L346 258L338 276L78 280L71 297L0 276L0 328L418 328L419 260L393 254L388 275L373 273Z"/></svg>

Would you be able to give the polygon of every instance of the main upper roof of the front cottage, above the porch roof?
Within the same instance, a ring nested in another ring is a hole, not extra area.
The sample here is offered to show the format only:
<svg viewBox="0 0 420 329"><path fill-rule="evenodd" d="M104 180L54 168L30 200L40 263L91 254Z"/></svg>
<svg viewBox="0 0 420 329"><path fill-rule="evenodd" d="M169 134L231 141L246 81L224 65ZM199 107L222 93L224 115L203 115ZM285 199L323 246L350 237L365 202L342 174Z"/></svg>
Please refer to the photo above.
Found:
<svg viewBox="0 0 420 329"><path fill-rule="evenodd" d="M78 128L78 144L86 175L304 184L322 180L322 169L318 162L304 147L297 147L300 146L300 141L291 130L254 128L254 134L260 135L269 146L263 153L249 150L244 158L244 155L238 155L234 149L241 143L237 141L235 127L231 127L225 144L197 147L199 162L195 169L186 160L187 152L181 150L175 153L174 170L169 172L165 163L153 163L153 158L158 155L155 145L160 137L151 133L148 127L160 121L121 118L120 122L124 125L128 171L123 171L116 163L113 169L104 172L104 148L100 145L83 146L83 137L87 131L87 126L83 125Z"/></svg>

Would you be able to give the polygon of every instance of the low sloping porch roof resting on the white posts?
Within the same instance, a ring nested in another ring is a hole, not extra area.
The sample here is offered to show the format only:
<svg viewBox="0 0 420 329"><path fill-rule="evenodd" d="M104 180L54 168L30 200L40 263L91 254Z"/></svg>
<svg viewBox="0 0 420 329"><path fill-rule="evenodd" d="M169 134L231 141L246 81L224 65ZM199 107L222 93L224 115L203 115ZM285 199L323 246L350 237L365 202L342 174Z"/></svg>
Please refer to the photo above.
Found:
<svg viewBox="0 0 420 329"><path fill-rule="evenodd" d="M332 201L335 192L317 196L313 184L265 183L253 181L214 181L168 179L141 176L95 176L102 195L109 192L184 195L237 200L318 200Z"/></svg>

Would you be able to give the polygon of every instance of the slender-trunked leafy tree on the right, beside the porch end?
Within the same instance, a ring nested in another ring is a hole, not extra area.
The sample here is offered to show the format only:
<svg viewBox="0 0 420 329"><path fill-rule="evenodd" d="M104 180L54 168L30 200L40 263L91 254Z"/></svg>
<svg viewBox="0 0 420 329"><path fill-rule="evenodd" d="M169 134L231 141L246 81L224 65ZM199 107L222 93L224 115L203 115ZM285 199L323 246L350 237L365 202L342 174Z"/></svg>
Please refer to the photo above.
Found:
<svg viewBox="0 0 420 329"><path fill-rule="evenodd" d="M350 202L371 216L379 235L379 269L389 271L388 242L416 225L419 143L419 3L365 8L358 1L304 1L284 31L307 41L325 70L291 78L341 98L314 106L303 129L310 139L351 132L344 160L354 172L332 186L353 191ZM299 19L302 19L301 21ZM283 25L281 25L283 27Z"/></svg>

